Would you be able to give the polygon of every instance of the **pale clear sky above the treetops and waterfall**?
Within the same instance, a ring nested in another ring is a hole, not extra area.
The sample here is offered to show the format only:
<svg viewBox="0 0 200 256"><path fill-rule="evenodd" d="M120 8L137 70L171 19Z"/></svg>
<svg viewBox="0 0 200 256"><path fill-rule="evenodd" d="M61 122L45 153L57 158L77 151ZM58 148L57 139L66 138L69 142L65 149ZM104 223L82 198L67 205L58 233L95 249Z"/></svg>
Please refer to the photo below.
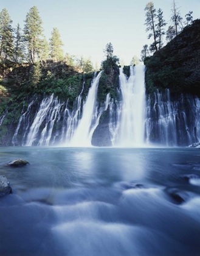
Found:
<svg viewBox="0 0 200 256"><path fill-rule="evenodd" d="M13 26L24 27L26 14L33 5L38 7L43 20L43 34L49 40L53 27L57 27L64 43L64 52L91 57L95 66L103 60L106 43L112 43L114 54L125 65L134 55L140 57L144 44L152 43L145 32L145 5L147 0L1 0L0 10L6 8ZM162 9L170 24L173 0L154 0L154 7ZM199 0L177 0L181 15L190 10L194 20L200 18ZM167 25L167 26L168 26Z"/></svg>

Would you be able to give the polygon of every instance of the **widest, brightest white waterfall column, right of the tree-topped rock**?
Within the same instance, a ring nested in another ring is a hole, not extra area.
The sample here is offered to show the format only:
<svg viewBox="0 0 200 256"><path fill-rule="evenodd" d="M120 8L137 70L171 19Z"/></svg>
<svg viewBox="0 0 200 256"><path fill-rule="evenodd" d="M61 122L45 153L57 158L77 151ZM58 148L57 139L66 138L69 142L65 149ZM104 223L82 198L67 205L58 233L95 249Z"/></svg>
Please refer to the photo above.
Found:
<svg viewBox="0 0 200 256"><path fill-rule="evenodd" d="M145 123L145 66L131 66L127 80L120 68L122 113L117 146L140 147L144 143Z"/></svg>

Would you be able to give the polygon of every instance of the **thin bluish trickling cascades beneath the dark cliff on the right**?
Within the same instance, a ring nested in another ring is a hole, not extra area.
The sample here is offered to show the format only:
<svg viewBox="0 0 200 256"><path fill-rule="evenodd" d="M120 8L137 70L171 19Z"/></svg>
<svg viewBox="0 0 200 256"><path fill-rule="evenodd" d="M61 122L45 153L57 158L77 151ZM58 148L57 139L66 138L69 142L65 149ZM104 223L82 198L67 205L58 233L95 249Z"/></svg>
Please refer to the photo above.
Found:
<svg viewBox="0 0 200 256"><path fill-rule="evenodd" d="M150 95L147 101L145 133L148 144L187 146L199 140L199 99L181 96L170 100L170 91Z"/></svg>

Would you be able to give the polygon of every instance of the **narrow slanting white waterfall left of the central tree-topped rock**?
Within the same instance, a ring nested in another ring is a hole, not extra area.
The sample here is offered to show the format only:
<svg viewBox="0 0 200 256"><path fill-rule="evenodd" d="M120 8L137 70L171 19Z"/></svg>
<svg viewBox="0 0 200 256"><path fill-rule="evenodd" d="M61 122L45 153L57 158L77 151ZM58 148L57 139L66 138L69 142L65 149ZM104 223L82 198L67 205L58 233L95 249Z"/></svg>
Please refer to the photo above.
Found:
<svg viewBox="0 0 200 256"><path fill-rule="evenodd" d="M92 131L97 125L97 89L98 82L102 75L102 71L92 81L91 88L89 89L88 97L83 105L82 118L80 119L77 129L69 142L69 146L91 146Z"/></svg>

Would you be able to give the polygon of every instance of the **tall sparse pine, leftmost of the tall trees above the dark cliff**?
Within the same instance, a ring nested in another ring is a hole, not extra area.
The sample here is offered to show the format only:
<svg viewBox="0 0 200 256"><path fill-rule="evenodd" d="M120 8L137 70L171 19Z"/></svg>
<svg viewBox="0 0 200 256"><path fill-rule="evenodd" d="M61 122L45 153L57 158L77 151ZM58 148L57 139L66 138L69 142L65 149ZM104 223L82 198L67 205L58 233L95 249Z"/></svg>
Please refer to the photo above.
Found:
<svg viewBox="0 0 200 256"><path fill-rule="evenodd" d="M148 35L148 39L150 39L152 36L154 38L154 43L151 44L151 51L157 51L157 35L156 35L156 9L154 8L153 2L148 2L148 4L145 7L146 11L146 19L145 19L145 25L147 26L146 32L150 31L150 34Z"/></svg>

